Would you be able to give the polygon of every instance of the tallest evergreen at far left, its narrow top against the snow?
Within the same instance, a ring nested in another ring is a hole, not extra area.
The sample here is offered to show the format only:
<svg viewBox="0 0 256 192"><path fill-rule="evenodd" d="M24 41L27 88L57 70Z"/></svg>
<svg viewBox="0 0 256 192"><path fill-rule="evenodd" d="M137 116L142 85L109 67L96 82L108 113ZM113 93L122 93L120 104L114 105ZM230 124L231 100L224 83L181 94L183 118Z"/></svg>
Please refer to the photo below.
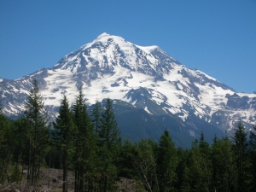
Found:
<svg viewBox="0 0 256 192"><path fill-rule="evenodd" d="M29 122L27 138L29 140L29 162L27 180L35 184L39 179L40 167L49 145L49 117L39 94L38 81L33 79L32 90L25 102L23 118Z"/></svg>

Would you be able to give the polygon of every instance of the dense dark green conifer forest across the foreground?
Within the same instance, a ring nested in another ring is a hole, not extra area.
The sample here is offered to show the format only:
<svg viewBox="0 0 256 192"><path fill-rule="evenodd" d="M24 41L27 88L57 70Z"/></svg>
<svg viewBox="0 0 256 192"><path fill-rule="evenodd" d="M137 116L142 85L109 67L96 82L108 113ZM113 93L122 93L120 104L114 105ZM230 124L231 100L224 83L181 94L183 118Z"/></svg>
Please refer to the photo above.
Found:
<svg viewBox="0 0 256 192"><path fill-rule="evenodd" d="M89 115L82 90L73 106L63 96L53 122L36 79L25 103L20 119L0 113L2 185L36 186L41 170L49 167L61 170L62 192L71 191L70 172L74 192L117 191L124 177L140 183L136 191L256 191L256 125L247 135L238 123L232 137L212 136L212 145L201 132L184 149L175 146L167 129L157 143L121 141L111 100L104 106L96 102Z"/></svg>

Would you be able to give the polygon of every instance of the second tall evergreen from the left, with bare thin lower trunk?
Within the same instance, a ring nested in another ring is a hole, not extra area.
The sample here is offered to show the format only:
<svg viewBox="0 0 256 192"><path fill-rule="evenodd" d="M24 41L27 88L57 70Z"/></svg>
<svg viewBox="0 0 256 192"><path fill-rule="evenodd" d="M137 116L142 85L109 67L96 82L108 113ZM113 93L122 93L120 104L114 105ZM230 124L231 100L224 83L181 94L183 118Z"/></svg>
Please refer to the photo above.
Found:
<svg viewBox="0 0 256 192"><path fill-rule="evenodd" d="M57 148L61 150L61 160L63 167L63 188L62 191L67 191L67 170L70 164L72 151L73 151L73 132L75 126L73 124L73 117L68 106L67 96L63 96L61 100L61 107L59 109L59 115L54 122L55 131L53 136L57 142Z"/></svg>

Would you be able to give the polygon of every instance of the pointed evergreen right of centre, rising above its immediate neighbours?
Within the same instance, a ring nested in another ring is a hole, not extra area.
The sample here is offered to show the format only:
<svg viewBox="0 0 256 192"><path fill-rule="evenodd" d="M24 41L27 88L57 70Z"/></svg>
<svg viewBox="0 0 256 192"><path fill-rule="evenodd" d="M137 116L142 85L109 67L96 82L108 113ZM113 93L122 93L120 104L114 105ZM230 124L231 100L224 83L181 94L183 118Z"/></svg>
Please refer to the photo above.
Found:
<svg viewBox="0 0 256 192"><path fill-rule="evenodd" d="M160 137L157 155L157 175L160 191L173 191L177 180L177 148L172 142L169 131L165 131Z"/></svg>

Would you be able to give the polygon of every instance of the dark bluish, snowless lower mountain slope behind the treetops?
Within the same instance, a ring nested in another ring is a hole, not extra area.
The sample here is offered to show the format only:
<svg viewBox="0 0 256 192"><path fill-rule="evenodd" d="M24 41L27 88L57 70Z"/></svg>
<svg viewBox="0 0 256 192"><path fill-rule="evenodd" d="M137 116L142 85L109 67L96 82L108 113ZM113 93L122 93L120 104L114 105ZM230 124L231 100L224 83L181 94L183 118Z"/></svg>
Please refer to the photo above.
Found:
<svg viewBox="0 0 256 192"><path fill-rule="evenodd" d="M101 105L104 106L105 102L106 99ZM90 106L89 112L93 108ZM113 111L121 131L120 136L123 140L129 139L131 142L138 142L143 138L158 142L166 129L171 133L176 146L183 148L190 148L195 137L199 138L202 131L209 143L212 143L215 135L218 138L224 137L224 132L218 127L195 116L184 122L174 114L150 114L143 108L136 108L131 103L120 100L113 100Z"/></svg>

